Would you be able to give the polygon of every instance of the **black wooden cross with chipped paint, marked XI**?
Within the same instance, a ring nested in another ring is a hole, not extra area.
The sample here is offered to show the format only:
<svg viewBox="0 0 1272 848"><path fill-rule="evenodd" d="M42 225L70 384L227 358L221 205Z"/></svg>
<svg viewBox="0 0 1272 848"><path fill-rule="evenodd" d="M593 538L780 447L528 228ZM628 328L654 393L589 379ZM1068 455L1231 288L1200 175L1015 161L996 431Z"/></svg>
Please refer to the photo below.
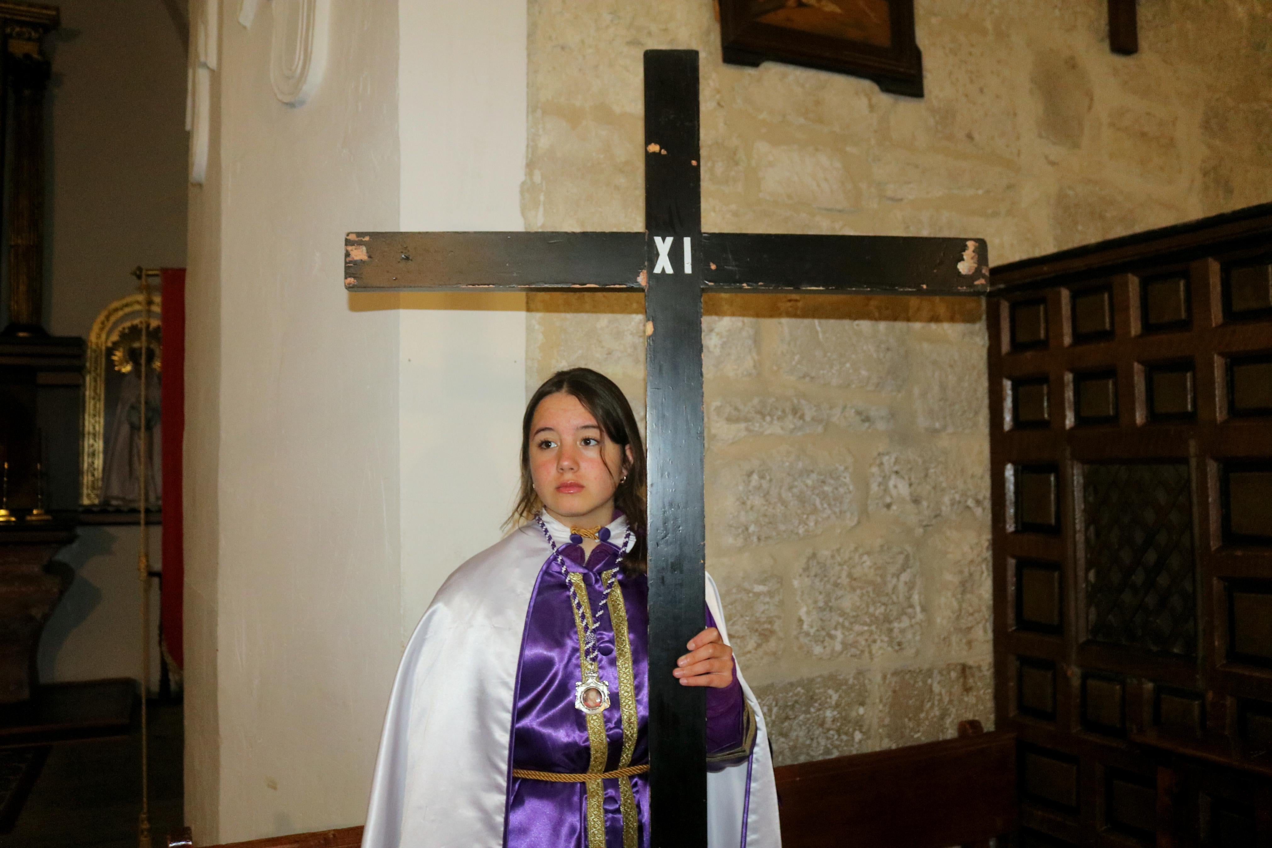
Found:
<svg viewBox="0 0 1272 848"><path fill-rule="evenodd" d="M350 233L350 291L645 294L651 845L706 845L706 701L670 669L702 629L702 292L983 295L979 239L703 233L698 55L645 51L644 233Z"/></svg>

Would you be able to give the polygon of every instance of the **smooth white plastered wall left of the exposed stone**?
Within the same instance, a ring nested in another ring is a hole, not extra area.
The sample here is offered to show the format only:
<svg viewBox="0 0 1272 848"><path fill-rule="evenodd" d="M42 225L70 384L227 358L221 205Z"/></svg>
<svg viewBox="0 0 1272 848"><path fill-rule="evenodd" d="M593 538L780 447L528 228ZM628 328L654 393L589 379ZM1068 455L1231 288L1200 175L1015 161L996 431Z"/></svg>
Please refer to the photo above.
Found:
<svg viewBox="0 0 1272 848"><path fill-rule="evenodd" d="M525 5L332 3L326 78L270 88L221 3L191 192L186 811L198 844L360 824L406 638L500 537L519 295L347 295L346 230L522 229ZM200 417L201 416L201 417Z"/></svg>

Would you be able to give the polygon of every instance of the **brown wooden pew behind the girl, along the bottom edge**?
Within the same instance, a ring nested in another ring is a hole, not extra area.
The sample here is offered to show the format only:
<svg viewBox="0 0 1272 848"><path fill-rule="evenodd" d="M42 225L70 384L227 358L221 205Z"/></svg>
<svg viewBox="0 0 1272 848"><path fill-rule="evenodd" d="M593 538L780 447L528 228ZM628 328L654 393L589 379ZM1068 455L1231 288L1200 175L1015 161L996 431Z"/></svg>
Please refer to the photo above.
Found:
<svg viewBox="0 0 1272 848"><path fill-rule="evenodd" d="M959 739L782 765L784 848L988 845L1016 826L1015 734L962 722ZM219 848L357 848L361 828ZM168 848L193 848L190 829Z"/></svg>

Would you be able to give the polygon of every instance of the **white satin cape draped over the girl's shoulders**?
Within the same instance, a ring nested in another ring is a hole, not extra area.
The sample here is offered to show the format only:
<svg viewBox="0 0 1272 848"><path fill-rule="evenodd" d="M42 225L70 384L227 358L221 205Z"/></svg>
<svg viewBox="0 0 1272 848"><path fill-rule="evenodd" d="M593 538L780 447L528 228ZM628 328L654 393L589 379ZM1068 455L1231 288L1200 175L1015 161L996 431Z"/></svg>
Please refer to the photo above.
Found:
<svg viewBox="0 0 1272 848"><path fill-rule="evenodd" d="M539 530L523 526L438 590L393 683L363 848L502 848L513 688L530 592L550 553ZM728 641L710 575L706 601ZM745 680L742 689L756 713L756 746L748 762L707 774L707 844L778 848L764 717Z"/></svg>

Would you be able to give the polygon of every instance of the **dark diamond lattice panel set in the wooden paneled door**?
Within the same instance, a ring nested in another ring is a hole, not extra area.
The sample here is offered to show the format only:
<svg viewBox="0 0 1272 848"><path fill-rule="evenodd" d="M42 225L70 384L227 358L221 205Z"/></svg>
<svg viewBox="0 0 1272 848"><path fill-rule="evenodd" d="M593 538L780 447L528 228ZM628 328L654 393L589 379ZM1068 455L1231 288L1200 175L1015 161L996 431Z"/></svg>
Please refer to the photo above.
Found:
<svg viewBox="0 0 1272 848"><path fill-rule="evenodd" d="M1187 463L1084 467L1090 638L1196 653L1191 492Z"/></svg>

